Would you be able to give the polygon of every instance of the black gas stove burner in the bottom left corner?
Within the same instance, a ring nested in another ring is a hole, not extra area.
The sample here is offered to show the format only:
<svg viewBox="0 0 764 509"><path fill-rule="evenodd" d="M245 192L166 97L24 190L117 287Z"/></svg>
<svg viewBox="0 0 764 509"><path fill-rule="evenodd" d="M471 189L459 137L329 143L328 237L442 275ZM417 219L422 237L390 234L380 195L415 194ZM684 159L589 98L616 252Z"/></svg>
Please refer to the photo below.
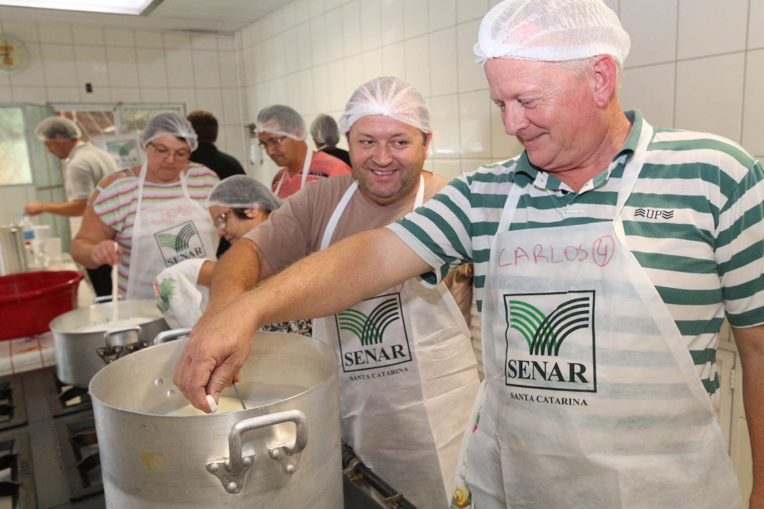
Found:
<svg viewBox="0 0 764 509"><path fill-rule="evenodd" d="M0 504L14 509L36 509L34 474L29 435L26 432L0 436Z"/></svg>

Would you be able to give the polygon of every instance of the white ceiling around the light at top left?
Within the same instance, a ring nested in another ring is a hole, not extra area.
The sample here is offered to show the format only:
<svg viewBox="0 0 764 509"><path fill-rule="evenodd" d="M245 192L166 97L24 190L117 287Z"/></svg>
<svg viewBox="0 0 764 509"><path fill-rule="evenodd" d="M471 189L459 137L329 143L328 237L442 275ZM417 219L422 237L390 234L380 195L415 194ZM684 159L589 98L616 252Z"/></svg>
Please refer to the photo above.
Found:
<svg viewBox="0 0 764 509"><path fill-rule="evenodd" d="M6 27L13 20L86 24L134 30L176 30L232 33L254 23L292 0L162 0L147 16L60 11L0 6Z"/></svg>

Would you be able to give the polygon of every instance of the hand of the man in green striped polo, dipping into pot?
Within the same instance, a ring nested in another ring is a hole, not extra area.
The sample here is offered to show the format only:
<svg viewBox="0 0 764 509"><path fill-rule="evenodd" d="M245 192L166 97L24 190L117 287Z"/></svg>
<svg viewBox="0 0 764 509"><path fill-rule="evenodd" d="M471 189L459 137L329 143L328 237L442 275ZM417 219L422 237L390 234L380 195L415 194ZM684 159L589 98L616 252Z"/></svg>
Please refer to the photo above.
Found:
<svg viewBox="0 0 764 509"><path fill-rule="evenodd" d="M206 395L219 401L220 392L238 379L257 329L251 319L242 319L235 304L236 301L202 327L194 327L175 365L173 383L193 406L208 414Z"/></svg>

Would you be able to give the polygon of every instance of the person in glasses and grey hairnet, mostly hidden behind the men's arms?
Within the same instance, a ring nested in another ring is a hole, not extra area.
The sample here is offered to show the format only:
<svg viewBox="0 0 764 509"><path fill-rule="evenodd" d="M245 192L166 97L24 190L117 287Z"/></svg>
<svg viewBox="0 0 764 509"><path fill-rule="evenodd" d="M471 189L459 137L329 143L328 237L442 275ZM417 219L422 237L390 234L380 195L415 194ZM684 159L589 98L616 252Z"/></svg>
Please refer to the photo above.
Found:
<svg viewBox="0 0 764 509"><path fill-rule="evenodd" d="M207 210L218 228L218 235L235 244L267 220L281 204L282 201L261 182L249 176L235 175L215 185L207 200ZM171 328L193 327L202 316L209 301L209 286L216 263L210 259L187 259L159 273L154 282L157 308ZM311 321L270 324L263 330L310 336Z"/></svg>

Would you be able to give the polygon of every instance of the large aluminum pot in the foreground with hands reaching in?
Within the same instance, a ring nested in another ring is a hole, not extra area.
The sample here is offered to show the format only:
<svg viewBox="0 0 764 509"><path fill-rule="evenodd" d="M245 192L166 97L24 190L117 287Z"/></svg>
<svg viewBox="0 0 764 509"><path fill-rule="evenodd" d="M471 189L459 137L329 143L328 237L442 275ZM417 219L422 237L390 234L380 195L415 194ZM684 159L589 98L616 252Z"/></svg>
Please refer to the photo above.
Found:
<svg viewBox="0 0 764 509"><path fill-rule="evenodd" d="M107 507L341 508L332 349L296 334L257 333L237 385L259 406L169 416L188 404L172 382L185 343L133 353L90 382Z"/></svg>

